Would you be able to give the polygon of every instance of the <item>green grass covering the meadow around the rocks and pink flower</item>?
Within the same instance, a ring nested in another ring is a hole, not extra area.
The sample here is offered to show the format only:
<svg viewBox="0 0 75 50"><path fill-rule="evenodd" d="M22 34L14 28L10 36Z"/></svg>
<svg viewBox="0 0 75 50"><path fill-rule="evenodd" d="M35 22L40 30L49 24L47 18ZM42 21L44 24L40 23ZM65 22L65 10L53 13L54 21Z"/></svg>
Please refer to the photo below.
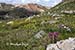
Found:
<svg viewBox="0 0 75 50"><path fill-rule="evenodd" d="M13 24L7 24L7 22L0 23L0 48L1 50L45 50L45 46L51 43L48 36L49 32L59 32L58 40L66 39L68 37L75 37L75 15L65 15L59 22L55 24L44 23L42 21L55 20L50 16L34 17L29 21L25 19L13 20ZM39 19L39 20L38 20ZM59 24L68 25L72 31L67 32L65 29L58 28ZM4 25L4 26L2 26ZM45 31L45 35L40 38L34 38L34 35L40 30ZM7 46L6 43L28 43L28 46Z"/></svg>

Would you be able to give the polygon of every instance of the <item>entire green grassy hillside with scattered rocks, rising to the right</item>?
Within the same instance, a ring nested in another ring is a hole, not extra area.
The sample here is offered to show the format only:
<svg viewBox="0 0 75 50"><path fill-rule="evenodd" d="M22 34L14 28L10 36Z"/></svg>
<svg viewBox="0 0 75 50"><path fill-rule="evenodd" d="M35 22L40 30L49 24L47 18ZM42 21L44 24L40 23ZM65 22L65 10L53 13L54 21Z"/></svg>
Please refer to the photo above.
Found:
<svg viewBox="0 0 75 50"><path fill-rule="evenodd" d="M59 33L55 42L75 37L74 5L75 1L65 1L39 15L0 21L0 49L46 50L53 43L49 32Z"/></svg>

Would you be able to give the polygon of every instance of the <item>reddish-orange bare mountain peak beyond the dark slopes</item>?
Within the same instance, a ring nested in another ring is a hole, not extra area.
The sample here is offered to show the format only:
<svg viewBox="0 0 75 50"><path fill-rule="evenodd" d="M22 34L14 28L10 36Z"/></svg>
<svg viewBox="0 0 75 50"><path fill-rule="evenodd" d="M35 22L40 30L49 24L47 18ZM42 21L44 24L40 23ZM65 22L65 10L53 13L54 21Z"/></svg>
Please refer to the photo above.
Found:
<svg viewBox="0 0 75 50"><path fill-rule="evenodd" d="M19 7L19 8L25 8L27 10L30 11L38 11L38 12L44 12L44 10L46 9L46 7L39 5L39 4L33 4L33 3L29 3L29 4L25 4L25 5L15 5L15 7Z"/></svg>

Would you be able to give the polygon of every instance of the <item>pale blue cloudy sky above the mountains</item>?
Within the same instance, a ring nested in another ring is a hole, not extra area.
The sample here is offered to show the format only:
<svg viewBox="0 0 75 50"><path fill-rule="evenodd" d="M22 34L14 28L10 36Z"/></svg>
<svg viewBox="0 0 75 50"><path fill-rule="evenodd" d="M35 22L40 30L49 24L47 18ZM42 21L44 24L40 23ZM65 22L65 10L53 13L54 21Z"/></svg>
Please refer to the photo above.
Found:
<svg viewBox="0 0 75 50"><path fill-rule="evenodd" d="M62 0L0 0L0 3L9 3L9 4L27 4L27 3L37 3L43 6L55 6L60 3Z"/></svg>

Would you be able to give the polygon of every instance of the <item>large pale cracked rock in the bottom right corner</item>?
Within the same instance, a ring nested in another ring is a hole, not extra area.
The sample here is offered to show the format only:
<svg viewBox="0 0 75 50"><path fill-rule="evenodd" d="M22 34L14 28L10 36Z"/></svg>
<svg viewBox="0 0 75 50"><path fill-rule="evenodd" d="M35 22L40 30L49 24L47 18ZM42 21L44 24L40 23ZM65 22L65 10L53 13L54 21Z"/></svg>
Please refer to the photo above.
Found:
<svg viewBox="0 0 75 50"><path fill-rule="evenodd" d="M49 44L46 50L74 50L75 38L58 41L56 44Z"/></svg>

